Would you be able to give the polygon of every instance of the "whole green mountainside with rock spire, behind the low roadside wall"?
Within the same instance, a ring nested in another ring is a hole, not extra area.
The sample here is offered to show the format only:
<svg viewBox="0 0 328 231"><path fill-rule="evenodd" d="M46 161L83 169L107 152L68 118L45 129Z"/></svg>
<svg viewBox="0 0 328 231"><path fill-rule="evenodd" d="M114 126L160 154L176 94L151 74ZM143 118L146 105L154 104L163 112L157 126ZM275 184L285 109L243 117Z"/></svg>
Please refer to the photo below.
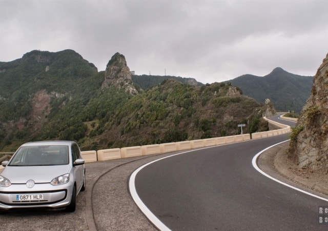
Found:
<svg viewBox="0 0 328 231"><path fill-rule="evenodd" d="M239 123L247 124L244 132L268 129L261 118L272 104L230 83L178 80L142 89L119 53L100 72L73 50L0 62L0 150L34 140L75 140L98 150L230 136L240 133Z"/></svg>

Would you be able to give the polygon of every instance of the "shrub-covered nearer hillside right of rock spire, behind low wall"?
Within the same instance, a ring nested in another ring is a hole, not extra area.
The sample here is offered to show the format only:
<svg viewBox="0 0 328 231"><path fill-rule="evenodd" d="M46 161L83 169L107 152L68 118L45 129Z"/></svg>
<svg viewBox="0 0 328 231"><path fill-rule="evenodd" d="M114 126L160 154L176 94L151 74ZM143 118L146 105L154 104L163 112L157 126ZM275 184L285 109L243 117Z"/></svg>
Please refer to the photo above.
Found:
<svg viewBox="0 0 328 231"><path fill-rule="evenodd" d="M261 122L266 108L240 94L228 96L230 88L224 83L195 87L163 81L121 105L98 144L115 148L231 136L240 134L239 123L247 124L245 133L268 130Z"/></svg>

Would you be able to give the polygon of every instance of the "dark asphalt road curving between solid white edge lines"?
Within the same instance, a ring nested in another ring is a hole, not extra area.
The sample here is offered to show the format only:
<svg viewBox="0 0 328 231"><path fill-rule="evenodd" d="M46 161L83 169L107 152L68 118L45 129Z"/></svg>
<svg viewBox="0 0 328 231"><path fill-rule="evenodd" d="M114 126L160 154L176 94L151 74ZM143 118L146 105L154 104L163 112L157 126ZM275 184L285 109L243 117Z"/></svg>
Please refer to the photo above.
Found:
<svg viewBox="0 0 328 231"><path fill-rule="evenodd" d="M286 134L202 148L140 168L133 177L150 210L146 216L172 230L326 230L318 209L327 201L279 184L252 165L256 153L285 140Z"/></svg>

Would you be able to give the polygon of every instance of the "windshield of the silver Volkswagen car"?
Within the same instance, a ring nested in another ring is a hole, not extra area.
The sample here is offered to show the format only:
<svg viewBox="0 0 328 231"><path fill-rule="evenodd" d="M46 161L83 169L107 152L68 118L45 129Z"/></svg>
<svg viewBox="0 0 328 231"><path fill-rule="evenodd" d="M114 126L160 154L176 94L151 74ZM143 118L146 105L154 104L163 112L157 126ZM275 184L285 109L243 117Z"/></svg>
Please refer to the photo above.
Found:
<svg viewBox="0 0 328 231"><path fill-rule="evenodd" d="M68 164L68 146L40 145L20 147L9 166L44 166Z"/></svg>

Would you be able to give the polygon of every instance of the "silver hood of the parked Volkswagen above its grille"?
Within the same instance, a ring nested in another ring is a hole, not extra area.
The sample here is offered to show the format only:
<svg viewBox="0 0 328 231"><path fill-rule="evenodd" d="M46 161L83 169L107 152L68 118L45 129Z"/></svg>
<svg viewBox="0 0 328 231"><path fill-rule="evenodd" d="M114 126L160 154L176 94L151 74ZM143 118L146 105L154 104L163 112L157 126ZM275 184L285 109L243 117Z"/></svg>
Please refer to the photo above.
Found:
<svg viewBox="0 0 328 231"><path fill-rule="evenodd" d="M6 166L2 176L12 184L25 184L28 180L35 183L49 183L53 178L69 173L70 165L54 166Z"/></svg>

